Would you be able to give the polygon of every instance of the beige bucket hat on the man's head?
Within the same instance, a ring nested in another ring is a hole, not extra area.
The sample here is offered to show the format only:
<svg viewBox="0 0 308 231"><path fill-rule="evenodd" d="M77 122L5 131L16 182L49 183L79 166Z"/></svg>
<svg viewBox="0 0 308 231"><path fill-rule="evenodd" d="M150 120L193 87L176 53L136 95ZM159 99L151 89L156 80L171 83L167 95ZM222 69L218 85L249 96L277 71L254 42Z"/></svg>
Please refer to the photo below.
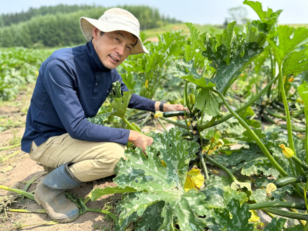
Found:
<svg viewBox="0 0 308 231"><path fill-rule="evenodd" d="M142 44L142 41L139 37L140 24L138 19L135 18L135 16L127 10L123 10L120 8L111 8L109 10L106 10L98 20L93 18L81 17L80 28L84 37L89 42L92 40L93 37L93 26L103 32L111 32L115 30L127 31L138 38L137 44L132 49L130 55L149 53L147 48L145 48Z"/></svg>

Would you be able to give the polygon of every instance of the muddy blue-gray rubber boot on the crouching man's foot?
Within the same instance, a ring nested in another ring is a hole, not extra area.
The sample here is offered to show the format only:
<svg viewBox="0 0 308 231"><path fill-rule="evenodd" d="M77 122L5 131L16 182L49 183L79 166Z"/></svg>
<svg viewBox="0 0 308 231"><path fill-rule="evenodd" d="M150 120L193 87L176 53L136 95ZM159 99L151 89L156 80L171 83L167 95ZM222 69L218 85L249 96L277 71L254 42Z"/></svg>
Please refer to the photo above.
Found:
<svg viewBox="0 0 308 231"><path fill-rule="evenodd" d="M76 188L82 182L71 175L68 165L51 171L35 189L35 201L44 207L48 215L58 222L73 221L79 215L77 205L65 197L65 190Z"/></svg>

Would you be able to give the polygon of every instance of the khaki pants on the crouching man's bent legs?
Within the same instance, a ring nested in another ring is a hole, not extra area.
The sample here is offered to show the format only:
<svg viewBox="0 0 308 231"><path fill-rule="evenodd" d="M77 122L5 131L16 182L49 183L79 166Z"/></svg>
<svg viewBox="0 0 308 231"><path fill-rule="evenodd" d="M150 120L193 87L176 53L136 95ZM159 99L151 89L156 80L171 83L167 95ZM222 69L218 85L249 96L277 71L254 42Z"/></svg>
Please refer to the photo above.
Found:
<svg viewBox="0 0 308 231"><path fill-rule="evenodd" d="M75 140L67 133L49 138L43 144L31 144L32 160L52 168L73 162L69 170L80 181L91 181L114 174L115 164L125 158L126 146L114 142Z"/></svg>

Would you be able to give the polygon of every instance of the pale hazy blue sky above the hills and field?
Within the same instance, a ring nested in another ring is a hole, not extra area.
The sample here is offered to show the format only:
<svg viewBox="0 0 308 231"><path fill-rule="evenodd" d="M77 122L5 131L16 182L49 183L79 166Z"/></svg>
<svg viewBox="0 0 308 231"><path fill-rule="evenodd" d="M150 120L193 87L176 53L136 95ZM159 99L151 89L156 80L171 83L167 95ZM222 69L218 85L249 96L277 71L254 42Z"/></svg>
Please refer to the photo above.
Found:
<svg viewBox="0 0 308 231"><path fill-rule="evenodd" d="M229 17L228 9L244 6L248 18L257 19L257 14L249 6L242 4L243 0L0 0L0 14L26 11L30 7L51 6L57 4L87 4L105 7L118 5L149 5L157 8L161 14L183 22L195 24L222 24ZM274 11L283 10L279 24L308 24L308 0L259 0L263 10L268 7ZM103 12L102 12L103 14Z"/></svg>

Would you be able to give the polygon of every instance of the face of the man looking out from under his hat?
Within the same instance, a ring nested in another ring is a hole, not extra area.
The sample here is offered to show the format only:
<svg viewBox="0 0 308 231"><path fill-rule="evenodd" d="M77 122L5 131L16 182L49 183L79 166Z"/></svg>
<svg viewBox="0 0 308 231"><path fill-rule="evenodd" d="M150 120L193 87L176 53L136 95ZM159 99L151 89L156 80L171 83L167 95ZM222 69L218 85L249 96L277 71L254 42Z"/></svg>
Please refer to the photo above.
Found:
<svg viewBox="0 0 308 231"><path fill-rule="evenodd" d="M105 32L103 36L100 32L96 27L93 28L94 49L103 65L114 69L128 57L137 39L123 30Z"/></svg>

